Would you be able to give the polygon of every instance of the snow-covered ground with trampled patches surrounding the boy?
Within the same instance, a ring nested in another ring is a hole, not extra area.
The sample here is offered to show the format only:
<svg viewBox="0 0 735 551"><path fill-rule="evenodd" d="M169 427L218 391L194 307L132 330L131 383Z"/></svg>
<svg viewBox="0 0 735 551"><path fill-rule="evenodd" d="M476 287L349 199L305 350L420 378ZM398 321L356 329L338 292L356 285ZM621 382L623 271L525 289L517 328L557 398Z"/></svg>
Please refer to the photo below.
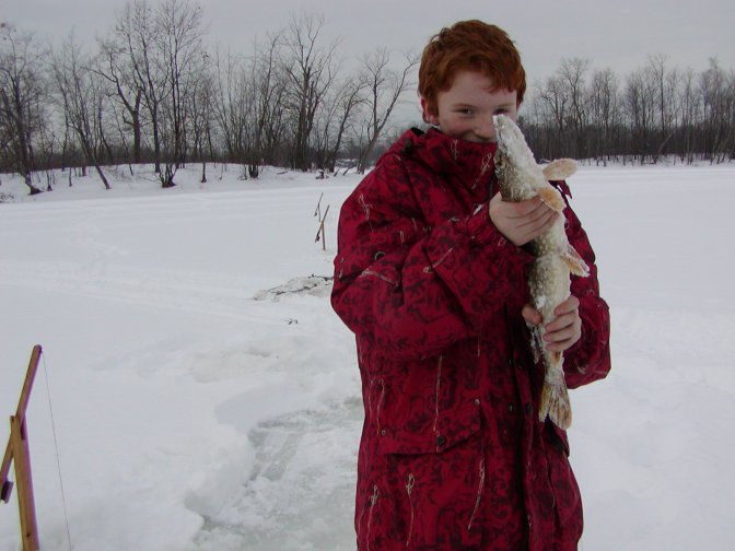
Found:
<svg viewBox="0 0 735 551"><path fill-rule="evenodd" d="M33 198L2 176L0 418L42 344L42 549L354 549L359 376L323 277L359 177L191 166L162 190L126 171ZM570 185L612 316L612 372L572 394L581 549L735 549L735 166ZM19 531L13 492L0 551Z"/></svg>

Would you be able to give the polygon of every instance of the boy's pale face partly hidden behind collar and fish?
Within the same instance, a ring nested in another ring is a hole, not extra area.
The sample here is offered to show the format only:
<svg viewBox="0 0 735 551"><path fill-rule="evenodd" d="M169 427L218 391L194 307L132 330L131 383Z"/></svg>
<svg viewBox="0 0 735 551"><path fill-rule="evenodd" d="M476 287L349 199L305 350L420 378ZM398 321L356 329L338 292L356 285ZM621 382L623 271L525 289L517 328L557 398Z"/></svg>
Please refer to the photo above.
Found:
<svg viewBox="0 0 735 551"><path fill-rule="evenodd" d="M515 90L495 90L492 81L475 71L458 71L452 87L436 94L436 115L428 112L427 101L421 107L428 122L447 136L470 142L494 142L493 115L518 117Z"/></svg>

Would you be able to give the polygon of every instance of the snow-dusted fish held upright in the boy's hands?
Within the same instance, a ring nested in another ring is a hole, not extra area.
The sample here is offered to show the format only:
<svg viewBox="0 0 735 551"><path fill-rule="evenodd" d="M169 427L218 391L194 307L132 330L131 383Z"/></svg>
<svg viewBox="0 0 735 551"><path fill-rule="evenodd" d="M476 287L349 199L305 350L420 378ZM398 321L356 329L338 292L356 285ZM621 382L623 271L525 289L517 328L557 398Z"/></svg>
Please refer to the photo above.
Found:
<svg viewBox="0 0 735 551"><path fill-rule="evenodd" d="M549 180L567 179L576 172L572 159L559 159L548 165L536 163L518 126L506 115L494 115L493 125L498 149L495 176L504 201L524 201L538 196L552 210L561 213L567 203ZM564 216L533 239L526 247L535 257L528 276L530 304L542 316L544 323L529 326L530 348L536 362L544 362L544 386L539 399L539 421L548 417L560 429L572 423L572 407L564 380L562 352L547 350L544 342L545 326L553 321L553 310L569 298L571 274L586 278L590 267L572 247L564 232Z"/></svg>

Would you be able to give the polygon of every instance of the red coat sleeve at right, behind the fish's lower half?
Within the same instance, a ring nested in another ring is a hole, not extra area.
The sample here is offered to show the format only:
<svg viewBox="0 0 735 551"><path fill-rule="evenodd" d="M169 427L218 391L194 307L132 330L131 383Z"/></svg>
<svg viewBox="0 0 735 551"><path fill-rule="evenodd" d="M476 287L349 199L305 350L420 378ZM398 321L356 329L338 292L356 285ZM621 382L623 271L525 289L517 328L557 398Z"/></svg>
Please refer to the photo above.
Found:
<svg viewBox="0 0 735 551"><path fill-rule="evenodd" d="M580 220L571 208L567 215L567 235L574 249L590 267L587 278L572 276L571 292L580 300L582 337L564 352L567 385L575 388L604 378L610 371L610 316L607 303L599 296L595 254Z"/></svg>

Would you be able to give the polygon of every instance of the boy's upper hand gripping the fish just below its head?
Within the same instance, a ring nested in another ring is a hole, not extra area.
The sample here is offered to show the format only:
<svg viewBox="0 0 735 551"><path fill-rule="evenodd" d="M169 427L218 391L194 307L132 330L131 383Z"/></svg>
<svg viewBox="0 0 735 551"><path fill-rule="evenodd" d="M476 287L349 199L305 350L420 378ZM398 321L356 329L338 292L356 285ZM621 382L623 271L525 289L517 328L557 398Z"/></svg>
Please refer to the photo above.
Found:
<svg viewBox="0 0 735 551"><path fill-rule="evenodd" d="M508 241L516 247L546 232L559 216L538 197L526 201L503 201L500 194L490 200L490 220Z"/></svg>

